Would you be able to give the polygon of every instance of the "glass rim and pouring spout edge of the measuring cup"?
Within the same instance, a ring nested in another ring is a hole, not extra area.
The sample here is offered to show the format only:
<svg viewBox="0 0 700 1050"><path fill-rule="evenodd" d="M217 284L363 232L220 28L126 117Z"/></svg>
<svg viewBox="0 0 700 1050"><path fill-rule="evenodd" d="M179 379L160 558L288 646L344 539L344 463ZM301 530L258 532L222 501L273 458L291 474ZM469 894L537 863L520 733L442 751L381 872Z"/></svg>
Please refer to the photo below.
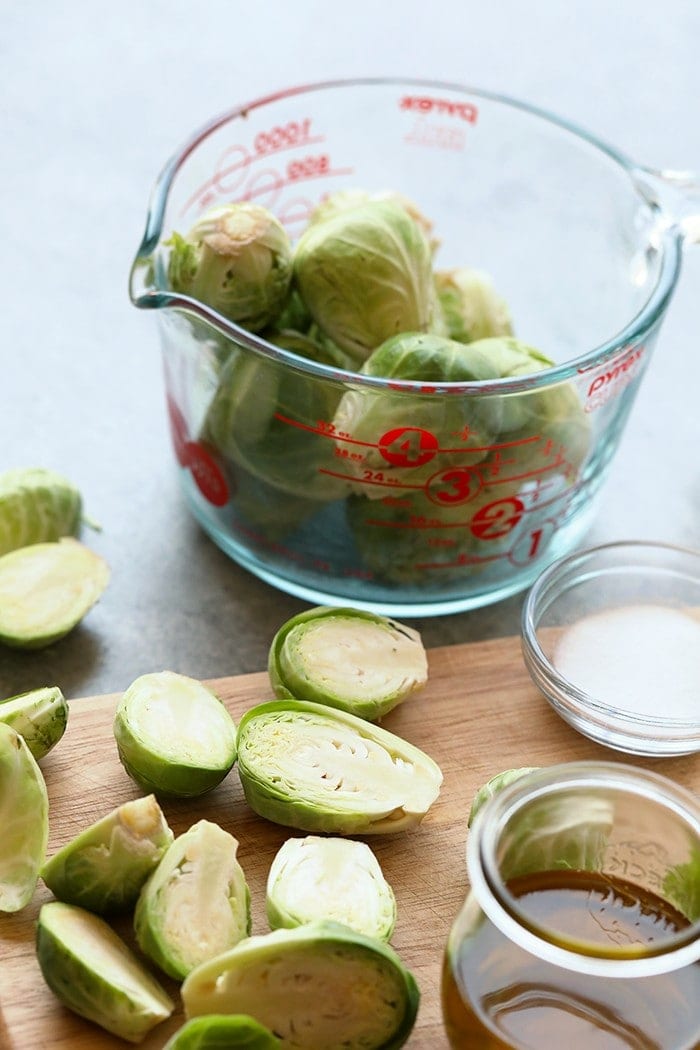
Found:
<svg viewBox="0 0 700 1050"><path fill-rule="evenodd" d="M390 390L393 393L430 395L473 395L484 396L489 393L508 394L522 393L524 391L537 390L554 382L560 382L572 377L598 368L616 356L621 351L634 346L649 333L654 324L662 317L669 304L669 300L675 289L680 271L682 239L672 224L664 224L659 228L661 252L661 267L658 280L652 292L638 313L618 333L611 336L604 342L579 354L568 361L555 364L550 369L543 369L540 372L530 373L518 379L503 378L493 380L480 380L472 382L440 382L428 383L421 380L388 380L381 376L365 376L357 372L348 372L342 369L333 368L319 361L312 361L299 357L291 351L275 346L259 336L247 332L234 321L228 320L215 310L205 306L188 295L169 292L167 289L154 289L146 294L140 295L135 291L135 274L151 260L152 253L156 249L163 230L170 187L178 170L197 146L211 133L229 121L242 117L252 109L270 105L282 99L296 94L311 93L314 91L325 91L337 88L370 87L378 86L399 86L424 87L437 90L459 91L476 98L487 99L506 107L519 109L537 118L560 131L572 134L575 139L581 140L589 146L611 159L620 169L622 169L630 180L633 180L635 171L641 171L638 165L624 156L620 151L598 139L588 130L577 126L571 121L564 120L546 109L523 102L518 99L502 94L496 91L488 91L480 88L472 88L465 84L457 84L449 81L422 80L401 77L365 77L323 80L316 83L299 84L293 87L261 96L243 105L227 109L218 117L213 118L208 123L200 126L185 144L176 150L161 171L148 206L146 217L146 229L141 246L131 266L129 278L129 293L134 306L142 309L164 309L170 308L192 314L201 320L207 321L219 333L233 339L238 344L249 350L283 363L285 366L304 374L317 376L320 379L330 379L336 382L353 383L359 386L375 387L378 390ZM639 191L637 191L639 192ZM642 194L639 193L640 198Z"/></svg>

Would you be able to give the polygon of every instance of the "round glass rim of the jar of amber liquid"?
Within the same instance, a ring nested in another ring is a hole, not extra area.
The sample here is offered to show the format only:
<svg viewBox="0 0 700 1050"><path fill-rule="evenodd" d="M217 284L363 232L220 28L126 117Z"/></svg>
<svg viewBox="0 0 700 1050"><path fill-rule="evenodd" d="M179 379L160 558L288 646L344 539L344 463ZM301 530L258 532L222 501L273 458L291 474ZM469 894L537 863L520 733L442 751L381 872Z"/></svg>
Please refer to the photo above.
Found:
<svg viewBox="0 0 700 1050"><path fill-rule="evenodd" d="M700 804L684 788L657 773L621 762L579 761L551 765L524 774L503 788L476 813L467 838L467 873L471 890L480 907L511 941L530 954L577 973L592 976L642 978L680 969L700 960L700 921L687 929L650 947L643 954L615 958L595 954L595 945L587 944L587 953L578 953L552 942L555 930L533 922L508 892L496 860L500 834L507 820L527 801L554 791L576 785L590 786L597 777L606 786L632 792L673 808L700 841ZM592 952L592 953L590 953Z"/></svg>

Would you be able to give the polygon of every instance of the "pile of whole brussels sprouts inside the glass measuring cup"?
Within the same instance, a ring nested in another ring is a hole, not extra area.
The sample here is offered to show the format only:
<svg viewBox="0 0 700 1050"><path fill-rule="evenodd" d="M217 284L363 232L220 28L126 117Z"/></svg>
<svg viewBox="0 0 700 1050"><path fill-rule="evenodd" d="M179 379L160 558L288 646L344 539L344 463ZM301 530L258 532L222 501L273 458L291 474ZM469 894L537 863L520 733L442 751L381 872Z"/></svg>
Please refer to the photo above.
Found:
<svg viewBox="0 0 700 1050"><path fill-rule="evenodd" d="M333 370L428 385L518 378L553 363L513 336L509 308L487 273L438 267L430 222L397 192L330 196L294 245L266 208L222 205L186 236L173 234L167 247L172 290ZM588 422L570 384L407 402L386 388L320 381L222 336L215 357L215 392L198 436L230 471L238 511L274 541L330 501L344 500L365 563L389 581L412 579L416 541L404 530L407 546L398 550L397 536L387 539L397 530L367 528L368 501L378 505L386 492L367 485L368 470L390 475L402 495L401 507L373 507L373 519L401 524L427 505L432 517L454 525L464 508L430 501L428 487L432 477L464 466L465 453L470 467L479 465L483 478L490 478L500 462L493 446L506 444L509 472L522 479L543 446L566 447L559 472L569 477L588 450ZM290 426L290 420L300 425ZM315 433L319 420L327 423L326 433ZM464 437L445 442L459 447L440 449L415 466L391 466L378 442L407 421L439 437ZM335 447L328 433L352 436L353 447L363 449L361 457L343 459L342 477L334 456L346 448L340 447L342 438ZM504 479L499 481L500 496L522 485L513 481L506 491ZM466 530L463 541L466 551Z"/></svg>

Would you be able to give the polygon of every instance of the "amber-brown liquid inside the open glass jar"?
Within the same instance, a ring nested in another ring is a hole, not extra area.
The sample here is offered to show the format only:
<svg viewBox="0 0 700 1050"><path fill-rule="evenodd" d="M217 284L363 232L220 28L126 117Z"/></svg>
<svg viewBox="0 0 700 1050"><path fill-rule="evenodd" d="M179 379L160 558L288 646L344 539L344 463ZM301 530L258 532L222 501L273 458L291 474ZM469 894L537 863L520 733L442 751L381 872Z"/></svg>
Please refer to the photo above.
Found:
<svg viewBox="0 0 700 1050"><path fill-rule="evenodd" d="M633 951L687 928L661 898L591 872L508 882L563 947ZM446 957L443 1017L454 1050L698 1050L700 962L645 978L592 976L544 962L490 920Z"/></svg>

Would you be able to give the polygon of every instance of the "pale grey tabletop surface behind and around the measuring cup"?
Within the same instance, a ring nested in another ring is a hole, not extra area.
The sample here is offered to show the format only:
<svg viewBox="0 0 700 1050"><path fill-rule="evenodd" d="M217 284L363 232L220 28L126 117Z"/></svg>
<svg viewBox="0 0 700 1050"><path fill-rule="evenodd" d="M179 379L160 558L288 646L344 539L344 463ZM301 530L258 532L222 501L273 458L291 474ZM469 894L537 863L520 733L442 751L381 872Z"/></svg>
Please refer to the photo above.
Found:
<svg viewBox="0 0 700 1050"><path fill-rule="evenodd" d="M70 636L0 650L0 696L116 692L166 668L261 670L274 630L305 607L190 520L155 324L127 296L153 181L199 125L292 84L432 78L519 97L640 163L700 171L697 0L3 0L0 16L0 469L72 478L103 525L85 542L112 570ZM691 248L587 542L700 546L699 298ZM515 633L521 605L417 626L430 647Z"/></svg>

